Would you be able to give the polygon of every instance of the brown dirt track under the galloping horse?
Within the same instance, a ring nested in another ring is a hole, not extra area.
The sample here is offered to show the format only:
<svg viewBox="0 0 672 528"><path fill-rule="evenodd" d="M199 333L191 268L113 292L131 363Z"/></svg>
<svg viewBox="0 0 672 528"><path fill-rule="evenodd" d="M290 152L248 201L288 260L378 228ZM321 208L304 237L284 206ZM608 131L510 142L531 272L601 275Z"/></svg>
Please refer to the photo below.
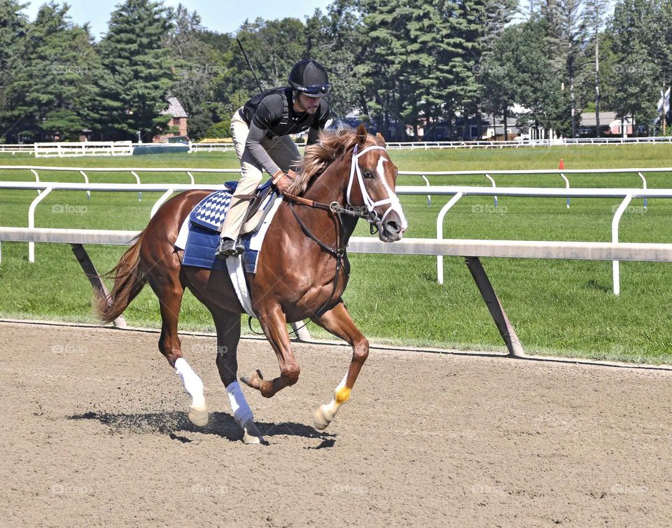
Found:
<svg viewBox="0 0 672 528"><path fill-rule="evenodd" d="M297 345L295 387L246 390L269 442L249 446L214 340L183 338L211 407L202 430L156 341L0 324L3 527L671 522L671 373L374 350L318 433L349 350ZM277 371L265 342L242 342L239 364Z"/></svg>

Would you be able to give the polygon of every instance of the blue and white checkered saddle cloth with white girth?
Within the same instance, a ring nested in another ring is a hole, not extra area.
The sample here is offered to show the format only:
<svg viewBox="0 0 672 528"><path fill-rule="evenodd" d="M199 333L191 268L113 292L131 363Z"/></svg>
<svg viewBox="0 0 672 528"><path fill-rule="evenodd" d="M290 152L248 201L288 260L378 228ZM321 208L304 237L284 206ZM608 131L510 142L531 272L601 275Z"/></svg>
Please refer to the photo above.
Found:
<svg viewBox="0 0 672 528"><path fill-rule="evenodd" d="M241 256L215 258L221 226L231 203L231 197L230 190L218 190L204 197L182 223L174 245L179 249L184 249L182 265L209 270L228 270L241 305L248 314L256 317L252 312L245 273L257 271L257 261L266 232L282 198L276 193L271 193L262 202L260 209L270 210L258 230L240 237L240 242L245 247L245 252Z"/></svg>

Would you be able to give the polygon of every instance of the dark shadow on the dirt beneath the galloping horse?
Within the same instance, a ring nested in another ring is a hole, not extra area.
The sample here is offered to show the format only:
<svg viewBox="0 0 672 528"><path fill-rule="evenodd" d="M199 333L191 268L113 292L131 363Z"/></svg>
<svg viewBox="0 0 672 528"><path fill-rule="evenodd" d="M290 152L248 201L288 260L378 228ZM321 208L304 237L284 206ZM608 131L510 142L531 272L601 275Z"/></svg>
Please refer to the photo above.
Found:
<svg viewBox="0 0 672 528"><path fill-rule="evenodd" d="M73 420L96 420L109 426L116 432L130 432L139 434L160 433L172 440L190 443L192 440L181 436L178 432L202 433L219 436L231 442L239 442L243 433L233 417L226 412L211 412L207 426L198 427L192 424L183 411L146 412L124 414L113 412L85 412L82 415L69 416ZM302 438L317 438L322 440L320 447L332 447L335 444L335 435L323 433L316 429L295 422L255 422L259 431L265 437L271 436L300 436Z"/></svg>

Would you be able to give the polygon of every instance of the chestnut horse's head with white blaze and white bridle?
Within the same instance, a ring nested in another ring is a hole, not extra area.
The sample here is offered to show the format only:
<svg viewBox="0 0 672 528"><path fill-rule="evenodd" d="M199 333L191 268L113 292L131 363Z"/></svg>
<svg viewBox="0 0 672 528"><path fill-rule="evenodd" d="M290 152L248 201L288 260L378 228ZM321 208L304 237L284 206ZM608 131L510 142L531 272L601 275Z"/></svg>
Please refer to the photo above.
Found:
<svg viewBox="0 0 672 528"><path fill-rule="evenodd" d="M385 146L381 134L376 134L372 141L365 126L359 125L346 202L349 207L367 213L367 220L378 229L378 237L383 242L395 242L404 236L408 222L394 192L398 169Z"/></svg>

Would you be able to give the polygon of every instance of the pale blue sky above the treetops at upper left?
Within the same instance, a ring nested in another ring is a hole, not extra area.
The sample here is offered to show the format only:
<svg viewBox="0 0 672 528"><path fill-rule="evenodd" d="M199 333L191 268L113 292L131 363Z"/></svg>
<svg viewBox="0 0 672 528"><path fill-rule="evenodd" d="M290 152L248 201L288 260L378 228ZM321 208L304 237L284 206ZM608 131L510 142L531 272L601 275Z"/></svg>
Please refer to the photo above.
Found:
<svg viewBox="0 0 672 528"><path fill-rule="evenodd" d="M39 6L45 4L42 0L30 0L25 13L34 20ZM63 1L59 1L62 4ZM69 0L70 16L78 25L90 22L96 39L100 39L107 31L107 22L110 13L121 4L121 0ZM246 19L254 20L257 17L273 20L276 18L294 17L304 20L306 15L312 15L316 8L325 8L331 0L255 0L250 2L241 0L165 0L167 6L176 7L183 4L189 11L197 11L201 15L202 24L208 29L220 33L235 32Z"/></svg>

